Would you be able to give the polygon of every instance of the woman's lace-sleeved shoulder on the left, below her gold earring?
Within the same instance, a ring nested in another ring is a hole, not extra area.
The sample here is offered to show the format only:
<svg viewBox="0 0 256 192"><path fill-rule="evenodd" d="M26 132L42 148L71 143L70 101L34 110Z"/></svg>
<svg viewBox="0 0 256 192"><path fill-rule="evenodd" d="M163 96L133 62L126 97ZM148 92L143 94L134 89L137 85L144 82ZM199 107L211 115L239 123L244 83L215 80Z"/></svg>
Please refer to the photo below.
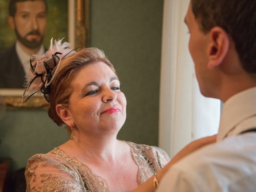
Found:
<svg viewBox="0 0 256 192"><path fill-rule="evenodd" d="M76 166L69 161L62 150L54 148L46 154L35 154L28 159L25 171L27 191L30 189L56 190L51 183L57 184L59 191L83 191L82 178L79 176ZM75 190L77 189L77 190ZM42 190L42 191L43 191Z"/></svg>

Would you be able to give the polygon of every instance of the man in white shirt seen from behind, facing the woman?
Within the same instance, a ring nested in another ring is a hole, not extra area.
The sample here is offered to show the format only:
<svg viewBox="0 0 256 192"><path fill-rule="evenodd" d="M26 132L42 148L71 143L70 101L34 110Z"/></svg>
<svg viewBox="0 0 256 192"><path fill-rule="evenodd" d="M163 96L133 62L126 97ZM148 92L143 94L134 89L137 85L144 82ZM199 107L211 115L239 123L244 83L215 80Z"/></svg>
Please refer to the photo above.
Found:
<svg viewBox="0 0 256 192"><path fill-rule="evenodd" d="M224 106L217 142L171 166L157 191L256 191L255 10L251 0L191 0L185 22L200 91Z"/></svg>

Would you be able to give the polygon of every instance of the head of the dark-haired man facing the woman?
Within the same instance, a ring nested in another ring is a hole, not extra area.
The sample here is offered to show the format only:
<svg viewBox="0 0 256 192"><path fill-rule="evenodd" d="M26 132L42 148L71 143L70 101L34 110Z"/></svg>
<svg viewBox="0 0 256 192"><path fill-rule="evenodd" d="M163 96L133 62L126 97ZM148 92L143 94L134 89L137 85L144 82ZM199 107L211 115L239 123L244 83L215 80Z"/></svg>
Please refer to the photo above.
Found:
<svg viewBox="0 0 256 192"><path fill-rule="evenodd" d="M185 22L190 30L190 53L204 96L219 98L214 96L214 88L220 87L223 80L220 77L226 67L232 75L243 70L256 77L255 10L256 2L250 0L191 0ZM238 64L231 67L232 62Z"/></svg>

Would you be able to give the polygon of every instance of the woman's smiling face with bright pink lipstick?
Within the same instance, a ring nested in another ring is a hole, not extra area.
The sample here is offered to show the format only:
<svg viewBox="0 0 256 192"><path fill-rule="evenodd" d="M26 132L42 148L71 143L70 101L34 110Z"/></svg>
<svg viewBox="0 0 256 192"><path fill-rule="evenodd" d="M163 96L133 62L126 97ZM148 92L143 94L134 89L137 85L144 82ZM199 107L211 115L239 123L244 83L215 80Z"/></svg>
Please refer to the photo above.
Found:
<svg viewBox="0 0 256 192"><path fill-rule="evenodd" d="M117 134L126 119L126 98L104 62L84 66L72 82L68 111L79 132Z"/></svg>

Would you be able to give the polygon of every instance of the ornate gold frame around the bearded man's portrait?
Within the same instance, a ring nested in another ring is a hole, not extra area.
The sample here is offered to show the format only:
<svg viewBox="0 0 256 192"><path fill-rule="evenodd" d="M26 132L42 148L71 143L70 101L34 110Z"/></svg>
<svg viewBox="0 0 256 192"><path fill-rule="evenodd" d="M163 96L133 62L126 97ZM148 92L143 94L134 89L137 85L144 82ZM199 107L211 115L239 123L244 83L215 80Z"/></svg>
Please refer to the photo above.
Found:
<svg viewBox="0 0 256 192"><path fill-rule="evenodd" d="M74 9L74 34L71 34L74 39L75 48L84 48L89 43L89 0L68 0L68 5L72 1ZM70 9L70 7L68 7ZM23 89L0 88L0 97L4 99L7 109L47 109L49 103L45 100L42 94L32 96L28 101L22 103ZM1 106L0 106L1 107Z"/></svg>

